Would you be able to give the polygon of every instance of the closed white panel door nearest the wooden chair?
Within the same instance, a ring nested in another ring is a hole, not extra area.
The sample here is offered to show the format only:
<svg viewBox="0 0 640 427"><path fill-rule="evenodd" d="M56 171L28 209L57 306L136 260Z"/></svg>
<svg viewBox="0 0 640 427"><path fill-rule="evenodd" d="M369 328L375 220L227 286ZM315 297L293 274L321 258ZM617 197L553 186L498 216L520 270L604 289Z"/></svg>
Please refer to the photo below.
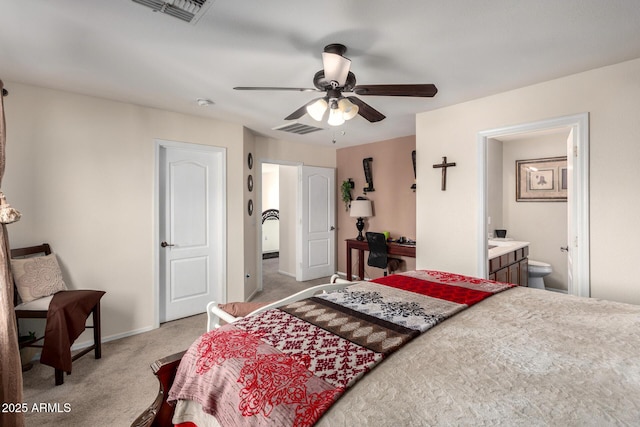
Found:
<svg viewBox="0 0 640 427"><path fill-rule="evenodd" d="M160 321L224 301L226 195L223 149L160 147Z"/></svg>

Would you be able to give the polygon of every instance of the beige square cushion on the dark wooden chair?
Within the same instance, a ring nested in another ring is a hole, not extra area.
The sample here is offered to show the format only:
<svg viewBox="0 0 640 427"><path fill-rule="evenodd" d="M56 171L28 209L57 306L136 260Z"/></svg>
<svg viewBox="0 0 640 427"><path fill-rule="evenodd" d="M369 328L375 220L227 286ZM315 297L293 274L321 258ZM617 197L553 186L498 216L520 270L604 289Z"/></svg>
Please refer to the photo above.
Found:
<svg viewBox="0 0 640 427"><path fill-rule="evenodd" d="M11 270L23 303L67 290L55 254L12 259Z"/></svg>

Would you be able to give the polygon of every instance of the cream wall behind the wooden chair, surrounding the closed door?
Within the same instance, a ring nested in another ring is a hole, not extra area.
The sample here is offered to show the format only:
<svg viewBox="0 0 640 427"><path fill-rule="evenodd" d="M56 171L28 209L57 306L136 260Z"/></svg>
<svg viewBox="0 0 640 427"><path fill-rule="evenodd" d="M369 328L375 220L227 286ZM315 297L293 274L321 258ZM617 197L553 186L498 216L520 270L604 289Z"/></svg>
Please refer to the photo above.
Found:
<svg viewBox="0 0 640 427"><path fill-rule="evenodd" d="M254 181L260 156L335 167L333 148L299 148L237 124L5 83L2 190L23 215L9 226L11 246L49 242L71 288L105 290L106 339L154 327L156 140L226 148L228 300L244 300L256 287L259 207L249 217L247 202L260 186L247 190L247 154L254 152Z"/></svg>

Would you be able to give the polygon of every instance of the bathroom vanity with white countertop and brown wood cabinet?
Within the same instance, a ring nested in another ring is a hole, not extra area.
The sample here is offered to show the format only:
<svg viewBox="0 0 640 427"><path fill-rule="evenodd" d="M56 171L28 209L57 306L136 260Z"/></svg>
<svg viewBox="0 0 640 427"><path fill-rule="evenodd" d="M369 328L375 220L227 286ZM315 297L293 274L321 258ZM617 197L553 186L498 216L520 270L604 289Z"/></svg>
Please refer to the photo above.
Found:
<svg viewBox="0 0 640 427"><path fill-rule="evenodd" d="M529 242L489 242L489 279L528 286Z"/></svg>

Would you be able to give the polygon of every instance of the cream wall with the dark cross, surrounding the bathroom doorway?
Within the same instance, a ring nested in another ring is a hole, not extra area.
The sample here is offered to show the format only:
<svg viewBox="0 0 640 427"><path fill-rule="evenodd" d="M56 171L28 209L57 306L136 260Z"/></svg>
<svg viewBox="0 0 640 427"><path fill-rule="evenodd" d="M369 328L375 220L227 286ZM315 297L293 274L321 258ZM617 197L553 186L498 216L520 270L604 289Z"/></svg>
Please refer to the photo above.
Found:
<svg viewBox="0 0 640 427"><path fill-rule="evenodd" d="M478 132L588 112L591 295L640 303L638 76L640 59L419 114L418 268L478 271ZM444 192L442 156L457 163Z"/></svg>

